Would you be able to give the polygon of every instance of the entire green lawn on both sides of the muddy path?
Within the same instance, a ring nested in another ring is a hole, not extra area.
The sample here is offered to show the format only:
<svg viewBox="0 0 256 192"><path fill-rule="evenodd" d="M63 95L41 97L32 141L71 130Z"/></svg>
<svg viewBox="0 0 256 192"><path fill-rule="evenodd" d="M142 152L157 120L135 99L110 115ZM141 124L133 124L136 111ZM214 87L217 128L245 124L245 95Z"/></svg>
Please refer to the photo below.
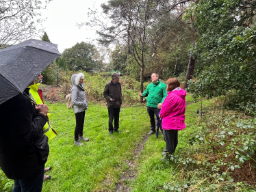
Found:
<svg viewBox="0 0 256 192"><path fill-rule="evenodd" d="M188 100L192 100L188 96ZM150 131L146 106L124 107L120 111L120 134L107 131L107 107L89 103L86 111L84 137L90 141L74 146L75 114L64 103L50 104L49 119L58 136L49 141L50 154L46 166L53 169L52 179L44 182L42 191L115 191L121 173L129 169L127 160L134 161L134 150ZM211 105L204 100L203 105ZM198 131L200 116L196 113L201 102L188 105L185 113L186 128L179 131L177 152L182 150L194 131ZM172 179L176 166L161 161L165 142L151 135L144 144L136 170L138 177L125 183L131 191L164 191L164 184ZM0 189L1 191L1 189ZM4 191L4 190L2 190Z"/></svg>

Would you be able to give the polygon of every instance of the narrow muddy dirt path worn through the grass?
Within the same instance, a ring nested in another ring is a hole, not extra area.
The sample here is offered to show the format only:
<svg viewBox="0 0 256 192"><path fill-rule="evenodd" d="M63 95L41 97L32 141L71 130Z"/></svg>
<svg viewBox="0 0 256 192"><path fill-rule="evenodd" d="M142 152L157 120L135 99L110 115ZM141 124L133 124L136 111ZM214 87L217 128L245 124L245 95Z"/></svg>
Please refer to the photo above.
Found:
<svg viewBox="0 0 256 192"><path fill-rule="evenodd" d="M142 142L137 146L137 148L134 150L134 161L126 161L129 165L129 169L121 174L121 178L118 181L118 184L116 184L116 192L128 192L130 191L130 188L125 185L123 182L124 180L132 180L137 177L137 172L135 169L136 162L138 161L138 156L140 156L140 152L142 152L144 148L144 143L149 139L149 135L144 135Z"/></svg>

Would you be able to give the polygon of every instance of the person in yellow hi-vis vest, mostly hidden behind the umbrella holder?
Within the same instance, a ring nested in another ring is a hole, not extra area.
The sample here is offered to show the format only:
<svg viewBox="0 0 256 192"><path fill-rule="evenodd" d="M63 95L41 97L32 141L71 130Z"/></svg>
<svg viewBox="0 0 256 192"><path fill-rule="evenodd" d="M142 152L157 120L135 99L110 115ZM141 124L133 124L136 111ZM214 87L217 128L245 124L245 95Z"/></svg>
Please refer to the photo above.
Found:
<svg viewBox="0 0 256 192"><path fill-rule="evenodd" d="M36 102L37 105L44 104L44 100L42 99L42 90L38 90L38 87L42 83L42 74L39 74L36 79L34 79L33 82L29 85L29 96L32 100ZM53 128L50 125L49 118L47 115L47 123L43 127L44 135L48 137L49 140L53 139L57 135L57 133L53 130ZM51 167L47 167L44 169L45 172L49 172L51 170ZM50 180L51 176L44 175L44 180Z"/></svg>

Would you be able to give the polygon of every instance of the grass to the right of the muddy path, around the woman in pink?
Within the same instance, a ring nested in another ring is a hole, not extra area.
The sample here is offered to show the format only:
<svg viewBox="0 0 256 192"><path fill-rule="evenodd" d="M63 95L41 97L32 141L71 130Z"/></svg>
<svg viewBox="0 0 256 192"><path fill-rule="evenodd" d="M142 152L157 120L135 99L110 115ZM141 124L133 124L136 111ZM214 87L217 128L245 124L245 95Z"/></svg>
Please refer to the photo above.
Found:
<svg viewBox="0 0 256 192"><path fill-rule="evenodd" d="M204 107L209 105L212 105L210 100L203 101ZM201 109L201 102L196 102L186 107L186 128L183 131L179 131L179 144L175 153L179 153L188 143L192 133L200 131L199 122L201 117L196 113L198 109ZM130 182L131 191L164 191L164 184L170 180L175 180L172 174L175 172L177 165L160 160L164 148L165 142L162 135L160 135L159 139L150 137L149 141L145 143L137 164L138 178Z"/></svg>

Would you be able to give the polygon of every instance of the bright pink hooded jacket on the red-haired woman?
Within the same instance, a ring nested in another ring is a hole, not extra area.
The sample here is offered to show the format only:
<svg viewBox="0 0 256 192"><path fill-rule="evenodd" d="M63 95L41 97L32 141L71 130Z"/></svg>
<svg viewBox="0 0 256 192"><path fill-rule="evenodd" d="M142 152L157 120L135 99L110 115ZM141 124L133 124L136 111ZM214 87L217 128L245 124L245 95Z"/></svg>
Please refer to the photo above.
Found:
<svg viewBox="0 0 256 192"><path fill-rule="evenodd" d="M164 130L185 128L185 90L176 88L168 92L159 113Z"/></svg>

